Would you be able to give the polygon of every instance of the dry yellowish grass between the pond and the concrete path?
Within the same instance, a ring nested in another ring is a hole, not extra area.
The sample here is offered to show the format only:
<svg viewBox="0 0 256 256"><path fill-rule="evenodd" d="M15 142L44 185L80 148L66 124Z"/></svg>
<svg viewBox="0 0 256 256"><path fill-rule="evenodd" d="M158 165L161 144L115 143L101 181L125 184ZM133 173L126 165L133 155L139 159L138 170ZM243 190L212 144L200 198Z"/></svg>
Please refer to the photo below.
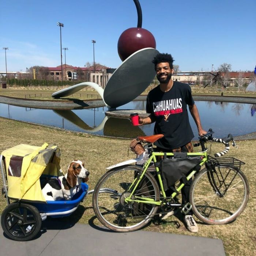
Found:
<svg viewBox="0 0 256 256"><path fill-rule="evenodd" d="M4 89L5 90L5 89ZM0 91L2 95L2 91ZM115 163L135 157L127 149L130 141L125 139L104 138L86 133L69 132L60 129L41 127L39 125L8 120L0 117L0 152L17 144L30 144L41 146L44 142L55 143L61 149L61 169L67 172L69 163L80 159L86 163L90 171L89 189L94 189L99 178L106 172L106 167ZM136 134L134 135L136 137ZM256 253L256 165L253 157L256 140L238 141L238 148L231 147L229 157L244 161L242 171L248 178L250 185L250 198L244 212L236 221L227 225L205 225L198 222L199 232L190 233L184 227L180 218L170 217L162 223L151 223L145 230L155 232L183 234L222 239L226 255L255 255ZM210 145L208 145L210 148ZM213 143L212 153L221 151L223 144ZM2 187L2 178L0 178ZM4 196L0 197L0 212L6 207ZM93 222L99 225L92 208L92 195L88 195L78 209L63 221L79 221L80 223Z"/></svg>

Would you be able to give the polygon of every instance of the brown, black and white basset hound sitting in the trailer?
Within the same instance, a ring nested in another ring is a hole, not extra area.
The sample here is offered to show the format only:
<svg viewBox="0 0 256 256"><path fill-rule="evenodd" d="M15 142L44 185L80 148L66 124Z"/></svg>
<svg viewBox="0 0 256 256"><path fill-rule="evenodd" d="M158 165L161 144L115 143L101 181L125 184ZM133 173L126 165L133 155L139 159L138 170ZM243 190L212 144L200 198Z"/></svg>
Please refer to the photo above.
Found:
<svg viewBox="0 0 256 256"><path fill-rule="evenodd" d="M89 180L89 172L80 160L74 160L68 166L65 176L51 178L42 193L46 201L70 200L80 190L81 183Z"/></svg>

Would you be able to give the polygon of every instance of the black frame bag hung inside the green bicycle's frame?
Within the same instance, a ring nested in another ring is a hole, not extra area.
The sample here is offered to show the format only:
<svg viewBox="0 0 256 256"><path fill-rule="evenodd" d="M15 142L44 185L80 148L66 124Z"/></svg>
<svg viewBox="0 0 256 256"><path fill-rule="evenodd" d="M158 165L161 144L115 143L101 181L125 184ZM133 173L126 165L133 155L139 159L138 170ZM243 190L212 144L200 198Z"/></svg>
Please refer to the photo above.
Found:
<svg viewBox="0 0 256 256"><path fill-rule="evenodd" d="M185 181L184 183L186 183L187 178L185 175L191 169L200 170L201 167L199 163L202 160L202 156L188 157L186 152L176 152L173 154L173 158L167 158L166 153L164 153L163 159L157 163L162 176L163 189L165 191L172 188L174 183L183 177L185 179L182 181Z"/></svg>

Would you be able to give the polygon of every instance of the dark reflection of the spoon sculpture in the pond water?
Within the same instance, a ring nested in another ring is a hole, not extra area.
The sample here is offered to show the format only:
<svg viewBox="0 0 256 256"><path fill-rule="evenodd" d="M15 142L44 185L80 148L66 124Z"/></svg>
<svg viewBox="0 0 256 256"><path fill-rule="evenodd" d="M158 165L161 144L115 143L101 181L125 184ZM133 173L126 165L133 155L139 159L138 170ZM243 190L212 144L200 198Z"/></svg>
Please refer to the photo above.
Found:
<svg viewBox="0 0 256 256"><path fill-rule="evenodd" d="M114 118L105 116L97 127L90 127L72 110L53 110L54 113L68 120L70 123L84 130L84 132L97 133L103 130L104 136L133 138L137 136L146 136L138 126L133 126L127 118ZM64 128L64 127L63 127ZM117 129L118 128L118 129Z"/></svg>

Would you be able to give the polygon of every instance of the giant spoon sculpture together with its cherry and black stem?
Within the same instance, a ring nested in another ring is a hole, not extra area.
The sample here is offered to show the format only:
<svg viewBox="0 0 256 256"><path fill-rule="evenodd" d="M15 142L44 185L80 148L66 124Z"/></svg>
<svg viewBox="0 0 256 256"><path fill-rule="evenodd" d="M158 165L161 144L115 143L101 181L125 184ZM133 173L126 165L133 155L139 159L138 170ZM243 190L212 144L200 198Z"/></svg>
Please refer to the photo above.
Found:
<svg viewBox="0 0 256 256"><path fill-rule="evenodd" d="M142 29L142 11L138 0L133 0L138 14L137 27L125 30L118 39L117 49L123 63L110 77L105 89L93 82L75 84L52 94L61 98L83 89L93 87L112 109L122 106L138 97L150 85L155 77L152 60L158 53L154 36Z"/></svg>

